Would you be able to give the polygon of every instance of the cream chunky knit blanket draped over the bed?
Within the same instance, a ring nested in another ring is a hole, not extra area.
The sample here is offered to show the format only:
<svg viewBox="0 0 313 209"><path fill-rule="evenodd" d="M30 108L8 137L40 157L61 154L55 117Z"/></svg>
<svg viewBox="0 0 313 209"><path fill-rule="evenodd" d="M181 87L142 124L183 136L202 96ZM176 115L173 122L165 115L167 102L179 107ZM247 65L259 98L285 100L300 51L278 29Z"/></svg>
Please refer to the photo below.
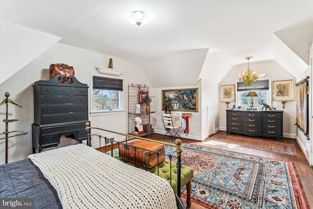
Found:
<svg viewBox="0 0 313 209"><path fill-rule="evenodd" d="M28 156L57 190L64 209L174 209L164 179L77 144Z"/></svg>

